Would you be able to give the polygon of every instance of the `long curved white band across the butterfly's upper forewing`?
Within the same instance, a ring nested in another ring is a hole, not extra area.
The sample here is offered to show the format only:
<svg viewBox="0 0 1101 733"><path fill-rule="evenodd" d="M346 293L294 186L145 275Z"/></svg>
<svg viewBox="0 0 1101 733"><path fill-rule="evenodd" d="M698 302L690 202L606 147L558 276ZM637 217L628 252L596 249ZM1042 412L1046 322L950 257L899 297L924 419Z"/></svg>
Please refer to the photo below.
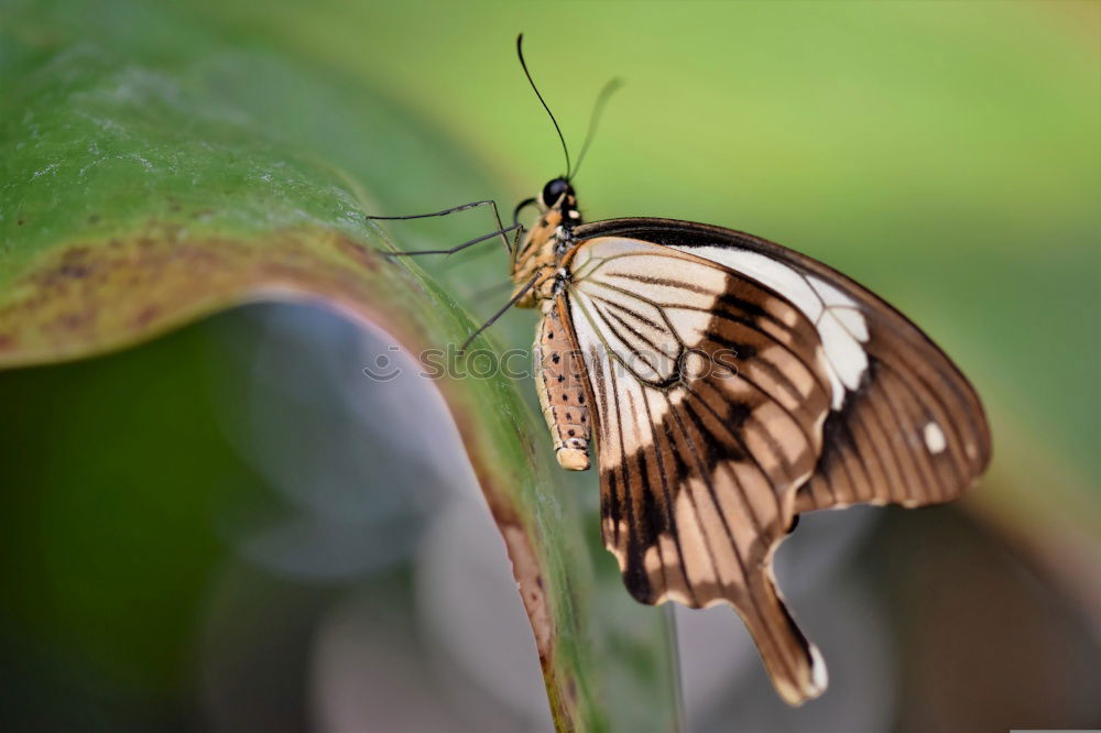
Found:
<svg viewBox="0 0 1101 733"><path fill-rule="evenodd" d="M818 329L826 352L832 390L831 406L841 409L847 392L860 386L868 371L868 324L857 302L814 275L804 275L783 262L750 250L728 247L676 247L672 249L718 262L767 285L802 310Z"/></svg>

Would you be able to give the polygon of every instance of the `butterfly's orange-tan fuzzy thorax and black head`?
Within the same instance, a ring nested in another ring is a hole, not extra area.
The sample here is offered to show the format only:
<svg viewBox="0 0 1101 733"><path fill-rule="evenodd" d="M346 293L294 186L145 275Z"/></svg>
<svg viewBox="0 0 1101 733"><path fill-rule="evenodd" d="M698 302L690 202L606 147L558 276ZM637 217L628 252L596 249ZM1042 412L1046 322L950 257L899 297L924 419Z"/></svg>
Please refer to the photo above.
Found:
<svg viewBox="0 0 1101 733"><path fill-rule="evenodd" d="M581 223L577 196L564 178L544 186L535 204L539 207L539 218L527 230L512 261L511 276L516 292L535 280L535 285L516 302L520 308L533 308L553 297L568 277L562 260L574 244L574 227Z"/></svg>

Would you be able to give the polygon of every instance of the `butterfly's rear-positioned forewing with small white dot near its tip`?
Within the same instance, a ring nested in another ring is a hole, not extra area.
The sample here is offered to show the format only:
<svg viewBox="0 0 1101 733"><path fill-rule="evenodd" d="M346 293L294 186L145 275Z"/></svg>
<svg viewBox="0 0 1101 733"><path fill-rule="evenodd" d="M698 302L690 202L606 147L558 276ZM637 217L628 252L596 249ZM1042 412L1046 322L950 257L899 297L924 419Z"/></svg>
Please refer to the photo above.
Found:
<svg viewBox="0 0 1101 733"><path fill-rule="evenodd" d="M726 265L780 293L815 324L832 392L821 456L799 489L796 512L946 502L985 470L990 430L970 383L920 329L849 277L719 227L621 219L588 228Z"/></svg>

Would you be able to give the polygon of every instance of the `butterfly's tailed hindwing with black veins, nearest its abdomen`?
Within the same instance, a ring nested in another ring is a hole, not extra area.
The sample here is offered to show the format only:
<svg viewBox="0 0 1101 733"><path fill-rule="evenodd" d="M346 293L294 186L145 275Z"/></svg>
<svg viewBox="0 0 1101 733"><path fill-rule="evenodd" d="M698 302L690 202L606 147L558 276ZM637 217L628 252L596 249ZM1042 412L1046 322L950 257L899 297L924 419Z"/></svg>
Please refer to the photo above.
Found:
<svg viewBox="0 0 1101 733"><path fill-rule="evenodd" d="M732 604L783 698L825 689L775 588L772 554L830 412L815 324L693 254L588 239L565 295L596 403L601 528L644 603Z"/></svg>

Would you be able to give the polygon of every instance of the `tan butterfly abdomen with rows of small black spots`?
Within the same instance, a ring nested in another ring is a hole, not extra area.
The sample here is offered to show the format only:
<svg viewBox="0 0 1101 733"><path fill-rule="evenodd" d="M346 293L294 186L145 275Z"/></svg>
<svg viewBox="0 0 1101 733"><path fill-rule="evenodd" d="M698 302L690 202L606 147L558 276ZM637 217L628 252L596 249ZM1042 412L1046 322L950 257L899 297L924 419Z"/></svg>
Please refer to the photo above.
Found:
<svg viewBox="0 0 1101 733"><path fill-rule="evenodd" d="M563 327L554 299L543 302L532 355L535 387L554 440L555 458L566 470L584 471L589 468L592 426L585 396L585 362Z"/></svg>

